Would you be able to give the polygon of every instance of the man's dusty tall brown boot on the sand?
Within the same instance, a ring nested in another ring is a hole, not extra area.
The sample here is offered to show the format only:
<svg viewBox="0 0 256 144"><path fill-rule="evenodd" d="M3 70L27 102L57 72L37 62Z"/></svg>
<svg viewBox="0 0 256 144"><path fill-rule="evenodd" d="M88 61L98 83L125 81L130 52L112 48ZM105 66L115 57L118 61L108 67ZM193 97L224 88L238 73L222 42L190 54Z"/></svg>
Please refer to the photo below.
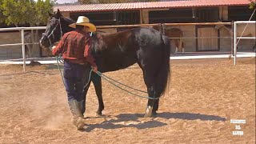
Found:
<svg viewBox="0 0 256 144"><path fill-rule="evenodd" d="M82 102L72 100L69 102L69 104L71 113L73 114L72 123L77 127L78 130L82 130L83 126L85 126L85 123L83 122L81 106L79 106L82 104Z"/></svg>

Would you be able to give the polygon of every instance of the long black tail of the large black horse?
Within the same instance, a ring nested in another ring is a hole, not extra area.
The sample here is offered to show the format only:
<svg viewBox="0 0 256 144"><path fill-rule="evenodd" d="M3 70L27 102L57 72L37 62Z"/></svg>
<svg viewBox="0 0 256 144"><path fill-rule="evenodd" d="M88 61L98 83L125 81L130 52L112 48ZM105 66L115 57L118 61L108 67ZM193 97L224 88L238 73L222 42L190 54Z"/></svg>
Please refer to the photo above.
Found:
<svg viewBox="0 0 256 144"><path fill-rule="evenodd" d="M162 65L159 67L157 76L157 87L160 96L165 93L170 77L170 39L165 35L162 35L162 40Z"/></svg>

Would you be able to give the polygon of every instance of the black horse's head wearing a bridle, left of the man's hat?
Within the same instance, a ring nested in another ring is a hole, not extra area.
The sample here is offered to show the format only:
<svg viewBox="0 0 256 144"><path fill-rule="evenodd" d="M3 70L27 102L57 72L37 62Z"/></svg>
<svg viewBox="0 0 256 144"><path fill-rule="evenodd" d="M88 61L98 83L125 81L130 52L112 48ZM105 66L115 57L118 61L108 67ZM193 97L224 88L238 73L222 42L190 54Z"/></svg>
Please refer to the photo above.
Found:
<svg viewBox="0 0 256 144"><path fill-rule="evenodd" d="M58 10L54 14L49 14L50 21L47 23L46 31L42 34L39 43L43 50L50 52L50 46L58 42L64 33L69 29L67 26L72 23L71 20L67 21ZM65 22L66 21L66 22Z"/></svg>

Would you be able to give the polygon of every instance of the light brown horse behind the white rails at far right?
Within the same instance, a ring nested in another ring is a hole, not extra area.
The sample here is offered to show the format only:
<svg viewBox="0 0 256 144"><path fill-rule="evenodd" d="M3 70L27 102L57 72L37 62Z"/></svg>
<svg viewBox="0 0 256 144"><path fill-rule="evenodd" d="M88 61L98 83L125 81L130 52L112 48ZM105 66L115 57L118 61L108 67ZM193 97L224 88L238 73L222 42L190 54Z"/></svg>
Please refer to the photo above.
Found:
<svg viewBox="0 0 256 144"><path fill-rule="evenodd" d="M230 25L216 25L215 26L215 29L216 30L220 30L220 29L224 29L224 30L227 30L230 34L230 37L233 37L233 29L232 29L232 26ZM245 29L245 25L237 25L237 38L239 37L255 37L255 26L247 26L246 27L246 30ZM256 49L255 49L255 44L254 46L252 46L252 50L255 52ZM232 47L233 47L233 43L232 43ZM238 49L238 46L237 46L237 49ZM232 49L232 54L234 55L234 50Z"/></svg>

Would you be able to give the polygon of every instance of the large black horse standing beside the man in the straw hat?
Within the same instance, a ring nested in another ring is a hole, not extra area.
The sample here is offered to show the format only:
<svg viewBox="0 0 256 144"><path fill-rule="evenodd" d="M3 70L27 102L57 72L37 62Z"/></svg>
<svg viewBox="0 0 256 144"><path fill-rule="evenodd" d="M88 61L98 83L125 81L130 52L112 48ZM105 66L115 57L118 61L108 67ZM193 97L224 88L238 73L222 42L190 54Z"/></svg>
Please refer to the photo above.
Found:
<svg viewBox="0 0 256 144"><path fill-rule="evenodd" d="M45 34L42 34L39 41L42 48L50 51L50 46L54 42L58 42L62 34L74 30L69 27L71 23L74 23L74 21L63 17L59 10L51 15ZM114 34L96 32L92 35L90 48L98 66L98 71L102 73L125 69L138 63L138 66L142 69L149 96L144 117L156 116L159 98L166 91L170 76L169 39L157 30L138 27ZM102 115L102 110L104 110L102 79L98 74L92 73L89 83L84 89L85 96L91 82L94 83L98 97L99 105L96 114Z"/></svg>

